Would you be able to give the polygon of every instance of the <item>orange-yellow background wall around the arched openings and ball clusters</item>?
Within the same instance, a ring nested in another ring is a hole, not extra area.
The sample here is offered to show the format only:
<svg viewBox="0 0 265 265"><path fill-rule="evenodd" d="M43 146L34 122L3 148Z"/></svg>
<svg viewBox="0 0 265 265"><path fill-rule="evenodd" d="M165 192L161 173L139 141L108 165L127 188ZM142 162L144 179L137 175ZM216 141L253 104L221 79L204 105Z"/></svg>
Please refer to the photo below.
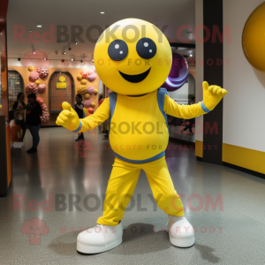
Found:
<svg viewBox="0 0 265 265"><path fill-rule="evenodd" d="M11 69L13 70L16 70L18 71L23 80L24 80L24 92L25 92L25 95L26 94L26 86L27 84L31 83L31 81L29 80L29 74L30 72L28 71L27 69L27 66L11 66ZM62 68L62 67L49 67L49 76L42 80L42 79L39 79L41 81L41 84L45 84L46 85L46 91L42 94L39 94L39 96L42 97L43 99L43 102L47 105L47 108L49 109L49 78L51 77L52 73L57 71L57 70L60 70L60 71L64 71L64 72L70 72L72 74L72 78L74 80L74 89L75 89L75 94L77 94L77 87L79 87L81 84L80 84L80 81L77 79L77 75L81 72L81 71L88 71L89 69L85 68L85 69L82 69L82 68ZM34 67L34 71L37 71L37 67ZM99 83L99 77L97 76L96 79L93 81L93 82L89 82L87 80L87 87L89 86L93 86L95 87L96 89L98 89L98 83ZM93 102L95 102L95 110L98 106L98 95L91 95L91 98L90 98ZM27 99L26 99L27 101ZM56 119L57 119L57 113L52 113L52 114L49 114L49 121L46 122L46 123L43 123L42 122L42 126L45 126L45 125L56 125Z"/></svg>

